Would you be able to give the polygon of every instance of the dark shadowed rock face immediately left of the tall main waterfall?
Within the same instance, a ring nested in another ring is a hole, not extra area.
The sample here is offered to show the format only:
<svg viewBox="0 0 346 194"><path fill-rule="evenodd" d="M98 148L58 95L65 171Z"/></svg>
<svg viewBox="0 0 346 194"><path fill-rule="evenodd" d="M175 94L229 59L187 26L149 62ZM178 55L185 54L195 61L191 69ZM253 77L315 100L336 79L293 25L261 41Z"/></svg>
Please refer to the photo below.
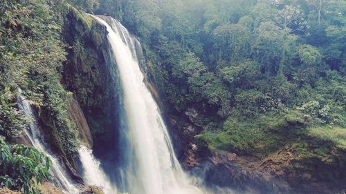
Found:
<svg viewBox="0 0 346 194"><path fill-rule="evenodd" d="M80 137L98 155L104 148L115 147L118 137L116 86L120 82L113 54L109 52L107 29L92 17L80 17L80 13L71 10L66 14L63 32L68 56L62 83L73 93L75 101L71 101L70 107Z"/></svg>

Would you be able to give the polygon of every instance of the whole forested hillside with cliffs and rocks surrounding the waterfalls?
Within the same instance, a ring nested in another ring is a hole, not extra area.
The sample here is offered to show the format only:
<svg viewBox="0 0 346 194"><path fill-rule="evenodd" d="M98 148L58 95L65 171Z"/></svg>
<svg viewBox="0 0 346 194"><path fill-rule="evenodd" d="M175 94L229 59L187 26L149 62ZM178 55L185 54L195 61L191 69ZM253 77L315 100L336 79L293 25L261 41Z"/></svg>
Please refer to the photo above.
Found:
<svg viewBox="0 0 346 194"><path fill-rule="evenodd" d="M38 193L51 166L21 144L29 121L18 88L76 182L80 144L104 162L121 151L114 130L121 103L113 103L122 99L121 81L107 65L108 32L87 12L118 19L142 44L145 84L186 171L241 192L345 193L345 7L343 0L0 1L0 187Z"/></svg>

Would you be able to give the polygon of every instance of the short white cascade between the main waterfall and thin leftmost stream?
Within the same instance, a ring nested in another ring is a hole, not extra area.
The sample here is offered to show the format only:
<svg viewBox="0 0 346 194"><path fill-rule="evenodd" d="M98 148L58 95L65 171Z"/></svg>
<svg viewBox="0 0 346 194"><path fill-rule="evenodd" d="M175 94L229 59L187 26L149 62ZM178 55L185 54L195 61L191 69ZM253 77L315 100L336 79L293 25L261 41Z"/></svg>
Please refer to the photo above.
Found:
<svg viewBox="0 0 346 194"><path fill-rule="evenodd" d="M83 168L83 180L86 184L99 186L105 194L117 193L106 173L100 168L100 161L93 156L92 151L86 146L78 149Z"/></svg>

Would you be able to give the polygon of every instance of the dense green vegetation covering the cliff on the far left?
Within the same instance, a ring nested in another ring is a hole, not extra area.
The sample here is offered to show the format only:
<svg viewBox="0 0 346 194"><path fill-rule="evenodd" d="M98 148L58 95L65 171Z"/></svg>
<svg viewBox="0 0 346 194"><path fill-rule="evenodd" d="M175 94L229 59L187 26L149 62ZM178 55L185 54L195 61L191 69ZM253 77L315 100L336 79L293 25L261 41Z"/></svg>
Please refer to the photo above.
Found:
<svg viewBox="0 0 346 194"><path fill-rule="evenodd" d="M66 2L0 1L0 187L38 193L48 177L48 158L17 144L29 118L16 106L18 88L44 115L54 146L62 157L76 151L75 126L67 113L71 93L61 79L65 48L61 40Z"/></svg>

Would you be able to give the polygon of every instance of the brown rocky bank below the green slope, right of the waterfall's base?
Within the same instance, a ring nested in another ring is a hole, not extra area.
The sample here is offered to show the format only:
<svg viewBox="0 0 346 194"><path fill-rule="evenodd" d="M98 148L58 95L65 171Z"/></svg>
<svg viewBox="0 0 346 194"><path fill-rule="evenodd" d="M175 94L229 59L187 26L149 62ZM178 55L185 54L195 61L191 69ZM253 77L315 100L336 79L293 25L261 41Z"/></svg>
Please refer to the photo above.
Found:
<svg viewBox="0 0 346 194"><path fill-rule="evenodd" d="M345 167L338 166L343 164L336 164L333 168L310 158L309 167L298 157L292 148L282 148L262 158L214 153L191 169L210 187L231 187L240 192L345 193L345 171L340 171Z"/></svg>

